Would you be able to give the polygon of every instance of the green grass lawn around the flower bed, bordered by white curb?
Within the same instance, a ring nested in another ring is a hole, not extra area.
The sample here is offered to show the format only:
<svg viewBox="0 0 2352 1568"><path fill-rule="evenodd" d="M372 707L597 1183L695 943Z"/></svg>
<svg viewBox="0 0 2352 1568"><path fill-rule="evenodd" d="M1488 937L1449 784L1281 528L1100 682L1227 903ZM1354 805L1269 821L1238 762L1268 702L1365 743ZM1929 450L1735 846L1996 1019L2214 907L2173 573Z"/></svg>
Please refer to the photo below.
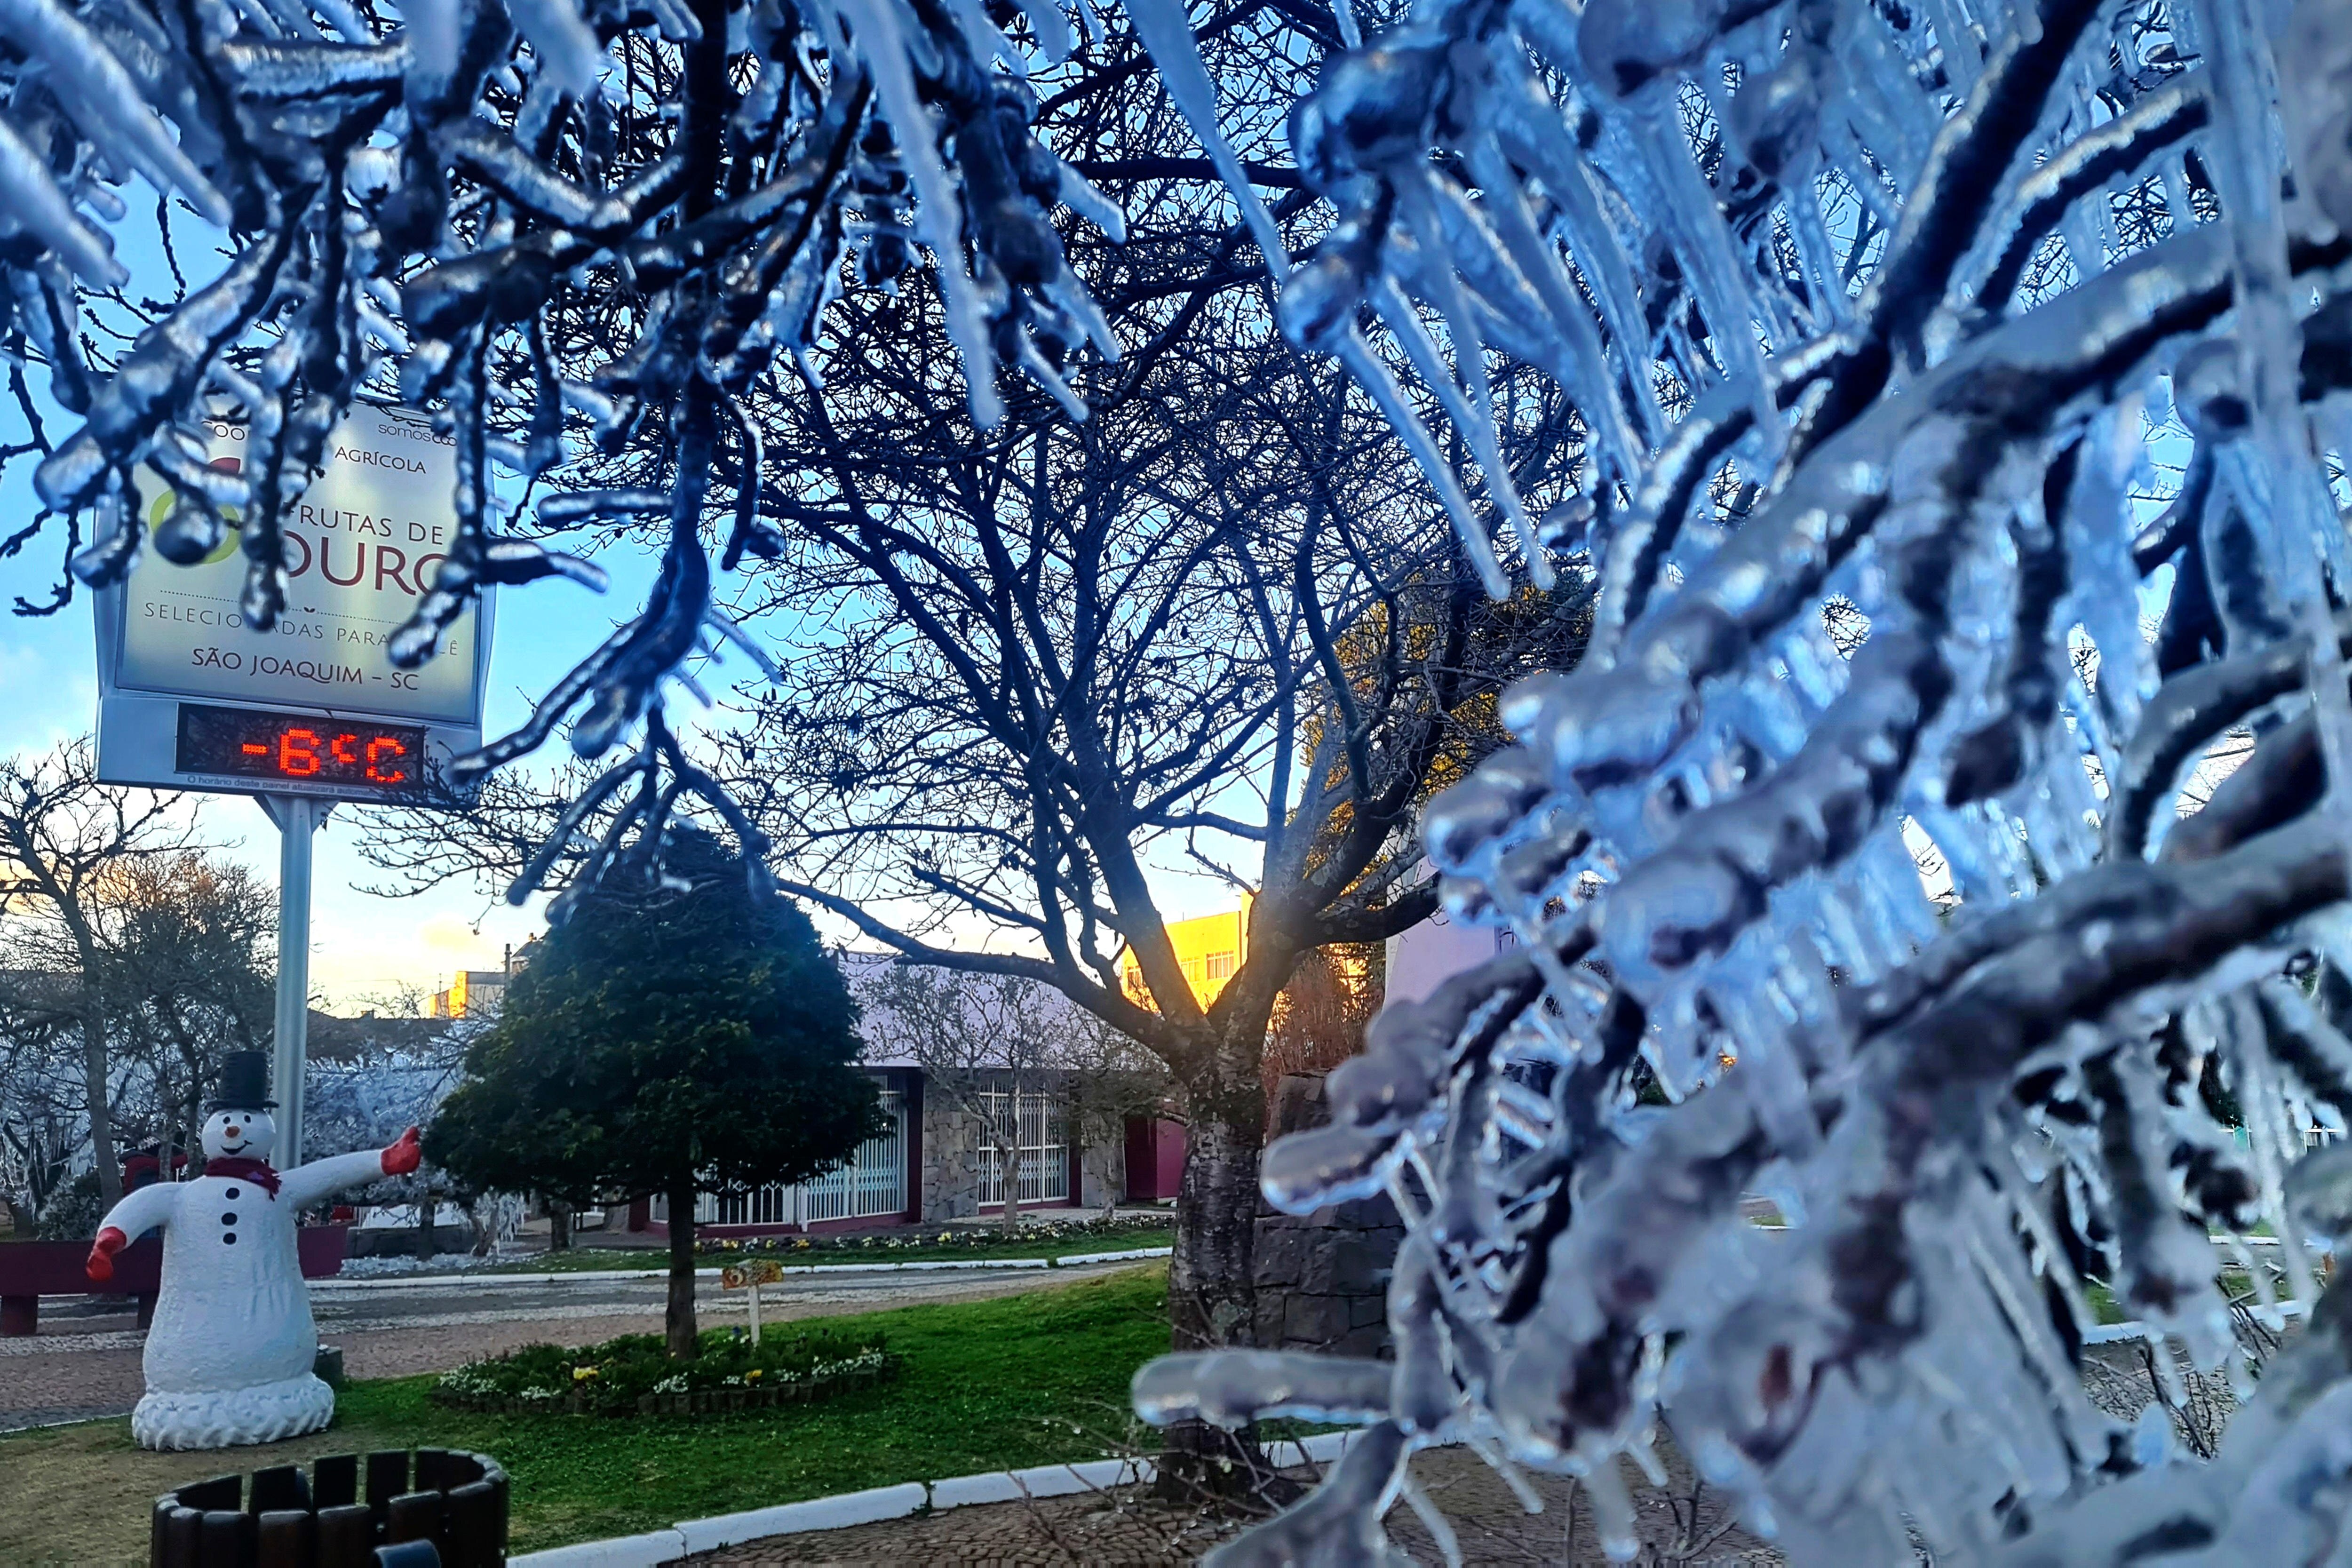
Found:
<svg viewBox="0 0 2352 1568"><path fill-rule="evenodd" d="M320 1453L470 1448L515 1481L515 1552L896 1481L1094 1460L1145 1446L1134 1371L1169 1345L1167 1269L988 1302L828 1319L880 1328L896 1382L731 1415L473 1415L430 1378L353 1382L327 1432L226 1453L143 1453L129 1420L0 1436L0 1563L143 1563L148 1502L179 1483Z"/></svg>

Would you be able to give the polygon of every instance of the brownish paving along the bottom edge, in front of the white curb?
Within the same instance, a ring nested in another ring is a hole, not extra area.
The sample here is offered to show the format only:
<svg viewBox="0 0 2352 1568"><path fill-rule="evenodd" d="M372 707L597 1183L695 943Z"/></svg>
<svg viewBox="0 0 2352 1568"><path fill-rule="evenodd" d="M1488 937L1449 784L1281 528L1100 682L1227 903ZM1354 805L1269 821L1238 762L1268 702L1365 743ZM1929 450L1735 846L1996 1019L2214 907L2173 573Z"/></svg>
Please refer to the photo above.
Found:
<svg viewBox="0 0 2352 1568"><path fill-rule="evenodd" d="M1663 1448L1663 1446L1661 1446ZM1689 1469L1668 1458L1668 1486L1642 1488L1635 1512L1646 1563L1677 1561L1691 1568L1783 1568L1771 1547L1729 1526L1726 1497L1698 1490ZM1609 1559L1592 1537L1592 1512L1562 1476L1531 1476L1543 1500L1526 1509L1477 1455L1461 1448L1423 1453L1414 1481L1446 1516L1461 1540L1465 1563L1571 1563L1599 1568ZM1160 1568L1192 1563L1240 1526L1202 1509L1157 1502L1150 1488L1120 1488L962 1507L920 1519L894 1519L851 1530L771 1535L724 1552L689 1556L694 1568L828 1568L957 1563L1002 1568ZM1444 1554L1430 1533L1399 1505L1390 1535L1416 1561L1439 1563ZM1696 1547L1677 1559L1658 1556L1668 1544Z"/></svg>

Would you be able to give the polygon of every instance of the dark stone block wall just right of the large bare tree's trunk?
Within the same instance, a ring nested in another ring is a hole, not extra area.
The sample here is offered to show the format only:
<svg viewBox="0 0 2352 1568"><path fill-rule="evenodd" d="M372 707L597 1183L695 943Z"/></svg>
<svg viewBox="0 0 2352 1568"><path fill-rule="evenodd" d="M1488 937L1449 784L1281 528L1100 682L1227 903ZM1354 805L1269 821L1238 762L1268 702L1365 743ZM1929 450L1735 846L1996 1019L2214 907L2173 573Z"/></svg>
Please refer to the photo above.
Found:
<svg viewBox="0 0 2352 1568"><path fill-rule="evenodd" d="M1329 1121L1322 1074L1291 1074L1275 1095L1275 1131ZM1388 1274L1404 1225L1385 1197L1308 1215L1263 1208L1256 1237L1258 1345L1338 1356L1385 1356Z"/></svg>

